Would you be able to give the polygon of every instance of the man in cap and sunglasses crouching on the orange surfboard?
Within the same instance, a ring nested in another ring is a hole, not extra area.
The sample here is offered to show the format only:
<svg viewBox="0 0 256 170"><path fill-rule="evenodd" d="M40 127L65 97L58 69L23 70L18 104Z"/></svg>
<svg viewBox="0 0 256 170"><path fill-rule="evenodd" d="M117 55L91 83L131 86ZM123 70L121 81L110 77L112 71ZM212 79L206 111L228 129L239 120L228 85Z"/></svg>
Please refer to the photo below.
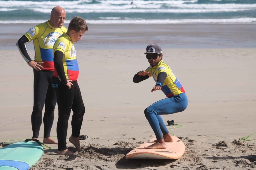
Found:
<svg viewBox="0 0 256 170"><path fill-rule="evenodd" d="M144 114L153 129L156 143L145 147L146 149L165 149L165 142L173 142L160 115L169 115L182 112L188 105L185 90L179 80L173 74L170 67L162 60L162 49L157 44L150 44L146 48L146 58L150 66L146 70L139 71L133 77L133 82L138 83L153 77L156 82L151 92L162 90L167 98L159 100L147 107Z"/></svg>

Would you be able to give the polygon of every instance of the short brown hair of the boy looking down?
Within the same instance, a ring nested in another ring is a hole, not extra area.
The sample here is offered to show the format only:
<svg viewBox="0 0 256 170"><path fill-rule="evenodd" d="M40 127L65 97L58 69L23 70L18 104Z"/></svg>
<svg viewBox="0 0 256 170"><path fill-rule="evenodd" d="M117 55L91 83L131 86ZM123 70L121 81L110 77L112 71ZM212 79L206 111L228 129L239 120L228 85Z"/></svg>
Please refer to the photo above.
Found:
<svg viewBox="0 0 256 170"><path fill-rule="evenodd" d="M68 31L71 30L75 30L75 32L80 30L87 31L88 26L82 17L73 17L68 25Z"/></svg>

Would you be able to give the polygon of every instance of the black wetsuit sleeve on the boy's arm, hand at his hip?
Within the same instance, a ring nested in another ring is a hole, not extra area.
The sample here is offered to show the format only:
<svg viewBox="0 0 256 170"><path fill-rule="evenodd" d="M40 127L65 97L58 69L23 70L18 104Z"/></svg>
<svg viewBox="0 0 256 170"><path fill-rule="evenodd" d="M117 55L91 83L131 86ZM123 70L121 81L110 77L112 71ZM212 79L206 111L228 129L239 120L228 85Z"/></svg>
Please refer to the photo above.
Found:
<svg viewBox="0 0 256 170"><path fill-rule="evenodd" d="M58 76L61 79L61 83L63 83L64 85L66 85L68 82L66 80L66 75L65 75L65 71L64 71L64 67L63 67L63 52L61 51L55 51L54 52L54 57L53 57L53 63L54 63L54 67L58 73Z"/></svg>

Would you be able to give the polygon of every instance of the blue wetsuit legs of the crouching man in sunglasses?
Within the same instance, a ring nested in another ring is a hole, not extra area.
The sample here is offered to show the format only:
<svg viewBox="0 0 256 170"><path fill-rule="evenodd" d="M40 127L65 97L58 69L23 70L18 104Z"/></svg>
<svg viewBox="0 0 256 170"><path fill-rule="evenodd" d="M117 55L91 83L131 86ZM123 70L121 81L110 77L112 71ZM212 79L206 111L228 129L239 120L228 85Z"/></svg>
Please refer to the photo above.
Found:
<svg viewBox="0 0 256 170"><path fill-rule="evenodd" d="M163 134L168 134L163 119L160 115L169 115L177 112L182 112L188 105L188 99L185 93L174 95L172 97L159 100L147 107L145 116L153 129L157 140L163 139Z"/></svg>

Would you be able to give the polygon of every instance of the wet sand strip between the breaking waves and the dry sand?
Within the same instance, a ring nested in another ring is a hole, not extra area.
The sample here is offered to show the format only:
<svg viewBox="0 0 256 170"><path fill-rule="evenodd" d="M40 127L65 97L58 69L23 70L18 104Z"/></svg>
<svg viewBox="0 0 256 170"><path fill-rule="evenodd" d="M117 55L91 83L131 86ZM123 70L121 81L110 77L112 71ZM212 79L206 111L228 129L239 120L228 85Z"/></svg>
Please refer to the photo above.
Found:
<svg viewBox="0 0 256 170"><path fill-rule="evenodd" d="M0 24L0 49L16 49L18 39L36 24ZM64 24L65 27L68 24ZM79 49L255 48L255 24L88 25ZM33 49L33 43L27 45Z"/></svg>

